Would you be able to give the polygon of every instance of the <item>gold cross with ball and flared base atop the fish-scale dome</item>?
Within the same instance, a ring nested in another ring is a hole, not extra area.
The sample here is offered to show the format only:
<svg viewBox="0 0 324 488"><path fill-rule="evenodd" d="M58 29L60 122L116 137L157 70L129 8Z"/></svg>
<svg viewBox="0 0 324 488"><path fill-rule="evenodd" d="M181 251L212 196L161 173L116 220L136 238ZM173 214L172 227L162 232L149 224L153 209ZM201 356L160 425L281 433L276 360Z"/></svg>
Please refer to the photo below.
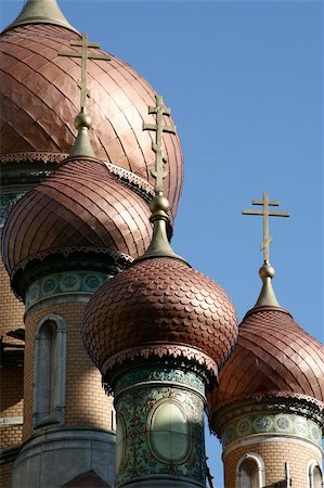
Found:
<svg viewBox="0 0 324 488"><path fill-rule="evenodd" d="M156 106L148 106L148 114L156 114L156 124L143 123L143 130L154 130L156 132L155 142L152 143L152 150L155 152L155 166L151 169L152 176L155 178L155 196L150 203L152 216L150 218L153 223L152 242L143 256L138 260L150 259L155 257L170 257L176 259L184 259L178 256L171 248L167 237L167 222L169 221L168 210L169 201L164 196L164 179L168 171L164 169L164 163L167 158L163 151L163 132L176 133L176 126L165 126L164 115L170 116L170 108L164 105L163 97L155 95Z"/></svg>

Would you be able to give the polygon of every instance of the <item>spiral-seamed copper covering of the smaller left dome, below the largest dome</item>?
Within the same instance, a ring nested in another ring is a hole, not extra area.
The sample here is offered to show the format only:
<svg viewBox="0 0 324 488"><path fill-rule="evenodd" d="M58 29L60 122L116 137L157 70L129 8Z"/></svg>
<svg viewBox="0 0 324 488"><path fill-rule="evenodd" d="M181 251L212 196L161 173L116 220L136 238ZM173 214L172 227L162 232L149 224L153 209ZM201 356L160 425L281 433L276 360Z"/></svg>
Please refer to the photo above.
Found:
<svg viewBox="0 0 324 488"><path fill-rule="evenodd" d="M148 205L93 158L70 158L28 192L2 234L3 261L17 265L49 249L109 248L132 257L150 243Z"/></svg>

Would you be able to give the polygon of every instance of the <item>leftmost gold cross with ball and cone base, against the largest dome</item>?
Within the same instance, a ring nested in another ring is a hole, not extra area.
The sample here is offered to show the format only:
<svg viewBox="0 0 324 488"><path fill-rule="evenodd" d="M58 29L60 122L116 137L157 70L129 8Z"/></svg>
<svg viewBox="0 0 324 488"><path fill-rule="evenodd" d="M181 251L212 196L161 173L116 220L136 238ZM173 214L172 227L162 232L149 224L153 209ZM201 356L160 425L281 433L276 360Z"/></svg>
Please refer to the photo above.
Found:
<svg viewBox="0 0 324 488"><path fill-rule="evenodd" d="M87 87L87 64L88 60L104 60L111 61L111 56L107 54L95 54L89 52L88 48L99 49L100 44L96 42L88 42L87 34L82 34L81 40L72 40L69 46L80 47L81 51L60 51L59 55L68 57L81 57L81 80L78 82L80 88L80 113L75 119L75 126L78 129L77 139L70 150L70 156L90 156L94 157L94 152L92 150L88 130L90 129L92 123L90 116L87 114L87 97L90 97L90 91Z"/></svg>

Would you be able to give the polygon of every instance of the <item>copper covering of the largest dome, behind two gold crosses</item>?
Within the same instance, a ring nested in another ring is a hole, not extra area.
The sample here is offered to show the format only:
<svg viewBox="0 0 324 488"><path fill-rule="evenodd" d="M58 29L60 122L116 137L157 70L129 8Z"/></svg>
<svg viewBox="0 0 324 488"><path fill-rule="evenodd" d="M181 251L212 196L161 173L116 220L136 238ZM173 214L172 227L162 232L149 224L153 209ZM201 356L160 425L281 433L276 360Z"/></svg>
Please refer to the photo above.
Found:
<svg viewBox="0 0 324 488"><path fill-rule="evenodd" d="M59 56L79 36L50 24L17 26L0 42L0 153L64 153L75 140L74 119L79 112L79 59ZM90 49L91 50L91 49ZM103 51L100 51L103 52ZM90 99L87 104L93 128L89 136L95 156L107 159L153 182L154 134L142 123L154 123L148 105L155 101L152 87L128 64L88 61ZM173 124L165 117L165 124ZM169 176L166 194L176 214L183 178L178 137L164 134Z"/></svg>

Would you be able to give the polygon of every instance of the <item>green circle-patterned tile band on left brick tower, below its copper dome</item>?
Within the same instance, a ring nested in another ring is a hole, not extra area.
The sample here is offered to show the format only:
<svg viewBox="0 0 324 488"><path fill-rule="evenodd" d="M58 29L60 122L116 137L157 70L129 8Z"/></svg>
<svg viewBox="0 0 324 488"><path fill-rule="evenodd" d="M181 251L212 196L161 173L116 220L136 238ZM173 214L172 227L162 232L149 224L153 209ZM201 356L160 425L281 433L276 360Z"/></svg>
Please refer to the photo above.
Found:
<svg viewBox="0 0 324 488"><path fill-rule="evenodd" d="M99 271L65 271L40 278L27 290L26 309L57 295L76 293L92 295L109 278L112 278L109 274Z"/></svg>

